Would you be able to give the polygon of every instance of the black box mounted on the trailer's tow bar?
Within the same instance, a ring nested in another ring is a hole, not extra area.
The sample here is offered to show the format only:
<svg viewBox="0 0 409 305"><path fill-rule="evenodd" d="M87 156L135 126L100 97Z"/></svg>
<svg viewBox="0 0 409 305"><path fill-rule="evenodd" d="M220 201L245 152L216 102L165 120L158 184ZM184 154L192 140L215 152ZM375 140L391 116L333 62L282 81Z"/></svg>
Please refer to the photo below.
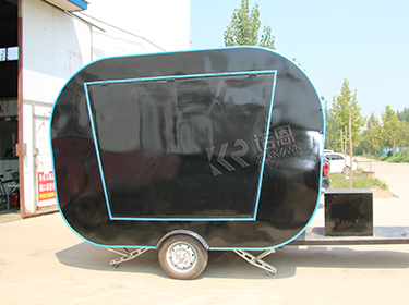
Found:
<svg viewBox="0 0 409 305"><path fill-rule="evenodd" d="M329 188L325 192L325 235L372 236L372 191Z"/></svg>

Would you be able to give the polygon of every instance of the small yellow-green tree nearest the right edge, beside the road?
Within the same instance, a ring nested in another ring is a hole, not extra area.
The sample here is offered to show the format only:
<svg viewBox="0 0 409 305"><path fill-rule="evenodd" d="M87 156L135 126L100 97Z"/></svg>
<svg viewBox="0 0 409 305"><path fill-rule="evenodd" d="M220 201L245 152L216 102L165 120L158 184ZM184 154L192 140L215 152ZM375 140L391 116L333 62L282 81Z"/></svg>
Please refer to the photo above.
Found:
<svg viewBox="0 0 409 305"><path fill-rule="evenodd" d="M404 144L404 124L398 120L398 115L390 108L390 106L386 106L385 112L382 112L382 122L384 125L382 133L382 144L386 147L394 147L393 154L395 157L396 147Z"/></svg>

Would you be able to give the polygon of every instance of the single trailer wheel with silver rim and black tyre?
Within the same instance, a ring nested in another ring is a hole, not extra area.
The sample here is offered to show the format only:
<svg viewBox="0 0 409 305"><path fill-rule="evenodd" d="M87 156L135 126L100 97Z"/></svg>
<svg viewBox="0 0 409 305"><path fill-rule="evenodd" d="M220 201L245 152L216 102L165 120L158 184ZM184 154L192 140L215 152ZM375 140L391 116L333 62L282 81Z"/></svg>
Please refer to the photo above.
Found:
<svg viewBox="0 0 409 305"><path fill-rule="evenodd" d="M161 269L171 278L191 280L207 266L207 251L194 237L175 235L167 239L159 248Z"/></svg>

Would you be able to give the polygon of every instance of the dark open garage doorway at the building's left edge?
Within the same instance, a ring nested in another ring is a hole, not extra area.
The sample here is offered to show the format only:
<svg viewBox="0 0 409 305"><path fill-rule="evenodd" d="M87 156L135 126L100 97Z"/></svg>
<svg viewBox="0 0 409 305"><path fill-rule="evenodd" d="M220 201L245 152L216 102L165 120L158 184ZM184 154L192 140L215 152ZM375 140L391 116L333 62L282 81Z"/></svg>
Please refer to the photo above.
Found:
<svg viewBox="0 0 409 305"><path fill-rule="evenodd" d="M0 0L0 211L19 209L19 11Z"/></svg>

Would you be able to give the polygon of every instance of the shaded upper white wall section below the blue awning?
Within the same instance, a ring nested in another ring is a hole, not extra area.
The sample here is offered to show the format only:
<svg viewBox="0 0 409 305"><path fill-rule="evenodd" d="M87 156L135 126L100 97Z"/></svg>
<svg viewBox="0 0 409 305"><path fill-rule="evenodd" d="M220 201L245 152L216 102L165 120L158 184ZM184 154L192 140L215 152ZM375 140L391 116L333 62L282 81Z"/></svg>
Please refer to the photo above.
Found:
<svg viewBox="0 0 409 305"><path fill-rule="evenodd" d="M91 61L89 27L43 1L22 3L24 99L52 103L77 61Z"/></svg>

